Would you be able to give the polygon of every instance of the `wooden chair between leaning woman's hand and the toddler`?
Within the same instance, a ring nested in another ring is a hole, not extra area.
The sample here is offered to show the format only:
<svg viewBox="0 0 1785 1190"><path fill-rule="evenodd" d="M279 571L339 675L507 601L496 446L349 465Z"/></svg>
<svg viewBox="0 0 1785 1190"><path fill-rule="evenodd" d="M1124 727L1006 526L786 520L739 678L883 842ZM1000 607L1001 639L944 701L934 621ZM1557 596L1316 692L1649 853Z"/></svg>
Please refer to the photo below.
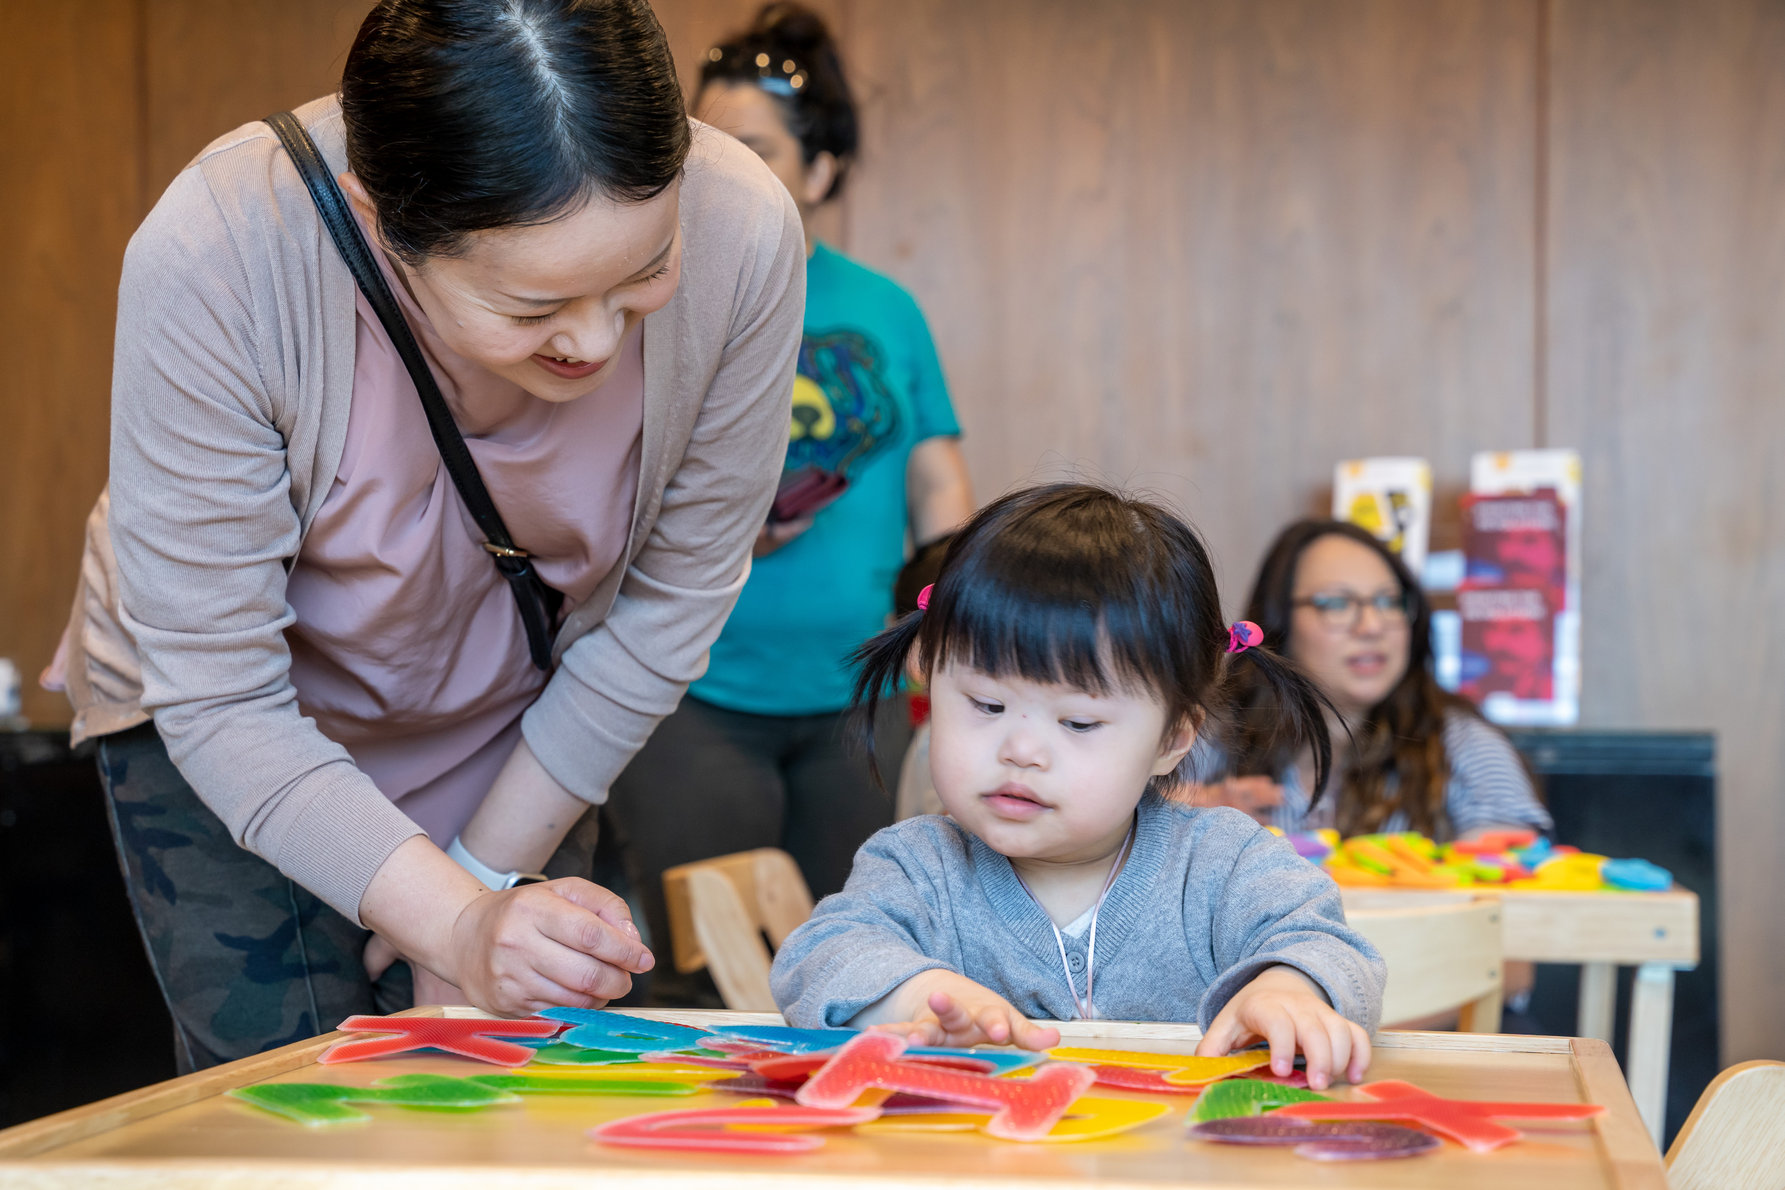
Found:
<svg viewBox="0 0 1785 1190"><path fill-rule="evenodd" d="M675 969L712 969L726 1008L776 1012L769 942L780 946L812 915L812 894L793 856L775 847L721 855L664 872Z"/></svg>

